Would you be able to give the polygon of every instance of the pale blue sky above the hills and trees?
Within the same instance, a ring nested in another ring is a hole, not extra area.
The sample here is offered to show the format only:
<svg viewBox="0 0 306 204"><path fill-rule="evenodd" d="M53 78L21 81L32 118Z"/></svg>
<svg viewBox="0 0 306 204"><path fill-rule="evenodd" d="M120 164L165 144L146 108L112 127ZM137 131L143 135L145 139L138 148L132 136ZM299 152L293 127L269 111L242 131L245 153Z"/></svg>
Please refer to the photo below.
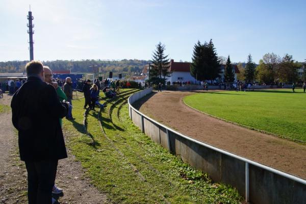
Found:
<svg viewBox="0 0 306 204"><path fill-rule="evenodd" d="M306 59L306 1L1 0L0 61L28 60L27 14L35 60L151 59L166 45L175 61L211 38L219 56L254 62L265 53Z"/></svg>

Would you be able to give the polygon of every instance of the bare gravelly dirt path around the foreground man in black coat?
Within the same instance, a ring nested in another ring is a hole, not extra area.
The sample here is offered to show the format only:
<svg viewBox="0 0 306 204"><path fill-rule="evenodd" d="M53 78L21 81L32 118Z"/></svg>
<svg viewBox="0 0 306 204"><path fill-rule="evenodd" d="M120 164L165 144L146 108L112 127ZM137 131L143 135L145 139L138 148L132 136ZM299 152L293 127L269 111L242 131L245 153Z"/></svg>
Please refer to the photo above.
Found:
<svg viewBox="0 0 306 204"><path fill-rule="evenodd" d="M11 96L5 94L0 104L10 105ZM0 202L27 202L27 171L18 156L16 132L11 123L11 112L0 114ZM64 132L66 139L69 135ZM59 161L56 184L64 189L60 195L60 203L100 204L107 201L107 196L99 192L89 179L84 176L80 162L70 154Z"/></svg>

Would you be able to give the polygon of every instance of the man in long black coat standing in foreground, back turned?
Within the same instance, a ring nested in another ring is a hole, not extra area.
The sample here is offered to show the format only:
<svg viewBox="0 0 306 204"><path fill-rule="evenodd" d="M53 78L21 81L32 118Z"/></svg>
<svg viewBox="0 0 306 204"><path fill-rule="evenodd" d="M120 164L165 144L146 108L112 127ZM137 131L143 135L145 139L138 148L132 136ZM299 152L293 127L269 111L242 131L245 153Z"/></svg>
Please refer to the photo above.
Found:
<svg viewBox="0 0 306 204"><path fill-rule="evenodd" d="M18 130L20 159L28 171L30 204L52 203L58 160L67 158L59 118L67 114L55 88L43 82L43 65L26 65L28 80L13 95L12 122Z"/></svg>

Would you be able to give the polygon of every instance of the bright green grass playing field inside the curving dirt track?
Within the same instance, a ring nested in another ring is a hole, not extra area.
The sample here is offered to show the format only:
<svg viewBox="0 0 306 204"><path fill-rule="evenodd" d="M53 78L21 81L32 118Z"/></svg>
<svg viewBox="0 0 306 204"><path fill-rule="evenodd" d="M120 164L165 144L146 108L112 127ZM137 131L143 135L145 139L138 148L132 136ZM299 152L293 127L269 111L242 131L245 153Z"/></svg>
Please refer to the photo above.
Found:
<svg viewBox="0 0 306 204"><path fill-rule="evenodd" d="M302 89L196 93L184 102L204 113L306 142L306 93Z"/></svg>

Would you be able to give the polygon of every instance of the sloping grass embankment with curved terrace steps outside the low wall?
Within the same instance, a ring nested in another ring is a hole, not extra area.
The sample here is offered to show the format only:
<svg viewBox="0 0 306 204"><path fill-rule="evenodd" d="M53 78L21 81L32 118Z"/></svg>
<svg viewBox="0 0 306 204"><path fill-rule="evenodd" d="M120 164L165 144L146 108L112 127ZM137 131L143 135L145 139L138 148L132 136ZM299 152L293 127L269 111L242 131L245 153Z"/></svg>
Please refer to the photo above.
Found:
<svg viewBox="0 0 306 204"><path fill-rule="evenodd" d="M152 142L129 118L124 89L101 112L89 111L83 126L84 98L73 100L75 121L64 120L67 146L92 183L114 203L240 203L238 192L214 184ZM104 102L104 101L103 101Z"/></svg>

